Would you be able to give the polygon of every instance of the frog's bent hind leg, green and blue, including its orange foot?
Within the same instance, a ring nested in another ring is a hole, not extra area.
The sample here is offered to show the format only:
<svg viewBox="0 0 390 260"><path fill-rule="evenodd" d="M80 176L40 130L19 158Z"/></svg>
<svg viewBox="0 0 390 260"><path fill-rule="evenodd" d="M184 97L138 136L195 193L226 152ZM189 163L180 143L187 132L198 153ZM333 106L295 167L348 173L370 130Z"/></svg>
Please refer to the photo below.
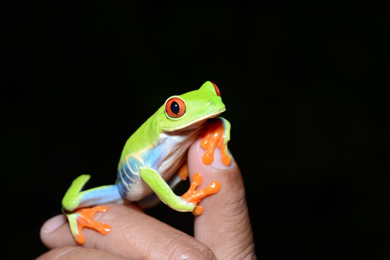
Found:
<svg viewBox="0 0 390 260"><path fill-rule="evenodd" d="M90 175L81 175L77 177L62 199L63 212L69 220L69 226L73 237L79 244L84 244L85 242L85 238L81 232L82 228L85 226L94 228L102 234L107 234L111 229L110 226L98 223L92 219L96 212L104 212L107 210L107 207L83 207L119 201L122 199L117 185L105 185L82 191L89 178Z"/></svg>

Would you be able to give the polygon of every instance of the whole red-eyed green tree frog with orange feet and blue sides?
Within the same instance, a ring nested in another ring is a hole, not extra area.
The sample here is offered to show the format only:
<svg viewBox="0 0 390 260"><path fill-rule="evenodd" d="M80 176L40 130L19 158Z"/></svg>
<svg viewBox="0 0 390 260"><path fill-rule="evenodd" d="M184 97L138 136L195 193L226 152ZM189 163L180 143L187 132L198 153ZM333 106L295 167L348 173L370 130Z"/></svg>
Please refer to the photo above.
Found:
<svg viewBox="0 0 390 260"><path fill-rule="evenodd" d="M157 198L174 210L202 214L204 209L197 204L204 197L218 193L221 189L218 181L198 191L202 175L195 173L190 188L182 196L172 189L188 178L188 149L199 135L200 146L205 150L204 164L213 162L217 147L222 163L231 163L227 148L230 123L219 116L225 110L214 82L207 81L197 90L170 96L126 141L115 184L83 190L90 175L83 174L73 180L62 199L62 211L76 242L85 243L84 227L103 235L110 232L110 225L93 220L96 212L108 210L100 206L103 203L139 201L140 205L150 207L156 203L153 198Z"/></svg>

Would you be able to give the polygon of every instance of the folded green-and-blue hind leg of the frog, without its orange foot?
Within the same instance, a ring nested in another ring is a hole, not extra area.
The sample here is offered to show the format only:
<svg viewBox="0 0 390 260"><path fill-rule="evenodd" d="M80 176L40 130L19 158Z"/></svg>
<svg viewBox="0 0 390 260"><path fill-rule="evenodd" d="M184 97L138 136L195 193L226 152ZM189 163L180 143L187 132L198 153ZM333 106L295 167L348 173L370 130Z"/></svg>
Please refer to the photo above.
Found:
<svg viewBox="0 0 390 260"><path fill-rule="evenodd" d="M105 185L81 191L89 178L89 175L81 175L72 182L71 187L62 199L62 207L65 210L72 211L76 208L118 201L122 198L117 185Z"/></svg>

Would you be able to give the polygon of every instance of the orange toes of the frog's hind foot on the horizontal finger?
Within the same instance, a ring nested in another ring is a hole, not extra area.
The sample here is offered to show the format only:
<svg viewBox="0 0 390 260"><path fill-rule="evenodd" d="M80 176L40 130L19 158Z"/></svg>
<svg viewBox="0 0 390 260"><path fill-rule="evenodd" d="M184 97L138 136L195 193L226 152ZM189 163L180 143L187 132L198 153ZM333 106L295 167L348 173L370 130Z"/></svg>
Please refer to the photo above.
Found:
<svg viewBox="0 0 390 260"><path fill-rule="evenodd" d="M107 207L96 206L93 208L80 208L75 210L77 221L77 235L74 236L74 239L77 243L84 244L85 242L85 237L81 232L82 228L85 226L89 228L94 228L103 235L108 234L110 232L111 227L109 225L96 222L92 219L96 212L105 212L107 209Z"/></svg>

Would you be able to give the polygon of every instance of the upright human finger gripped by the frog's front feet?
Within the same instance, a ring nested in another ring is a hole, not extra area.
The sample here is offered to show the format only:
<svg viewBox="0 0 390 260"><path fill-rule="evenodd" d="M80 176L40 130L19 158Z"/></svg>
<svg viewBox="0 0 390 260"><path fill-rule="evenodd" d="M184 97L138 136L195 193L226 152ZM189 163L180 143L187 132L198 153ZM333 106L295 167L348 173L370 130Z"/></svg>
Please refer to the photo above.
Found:
<svg viewBox="0 0 390 260"><path fill-rule="evenodd" d="M218 259L254 258L252 228L238 165L234 159L229 166L223 165L219 148L214 152L213 163L205 165L200 140L195 140L188 151L190 180L194 173L200 173L203 181L198 190L215 181L221 189L199 203L204 212L195 217L195 238L209 246Z"/></svg>

